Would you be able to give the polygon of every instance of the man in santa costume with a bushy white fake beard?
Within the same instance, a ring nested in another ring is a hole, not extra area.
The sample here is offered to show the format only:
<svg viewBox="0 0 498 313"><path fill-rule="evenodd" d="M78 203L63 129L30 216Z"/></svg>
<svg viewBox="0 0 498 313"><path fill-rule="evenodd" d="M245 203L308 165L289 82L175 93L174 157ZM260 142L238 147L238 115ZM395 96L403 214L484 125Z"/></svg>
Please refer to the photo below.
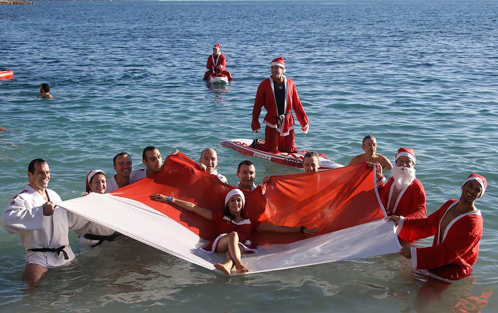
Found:
<svg viewBox="0 0 498 313"><path fill-rule="evenodd" d="M415 178L414 166L417 158L413 149L399 148L394 160L392 176L387 182L382 175L382 167L376 167L377 188L387 215L424 218L427 212L425 190L422 183Z"/></svg>

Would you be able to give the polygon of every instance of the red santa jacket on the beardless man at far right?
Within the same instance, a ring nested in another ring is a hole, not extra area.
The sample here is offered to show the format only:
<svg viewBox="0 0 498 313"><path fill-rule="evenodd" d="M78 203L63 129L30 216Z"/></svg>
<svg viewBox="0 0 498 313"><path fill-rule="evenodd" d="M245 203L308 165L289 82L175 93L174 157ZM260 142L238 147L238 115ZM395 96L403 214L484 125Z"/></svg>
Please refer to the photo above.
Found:
<svg viewBox="0 0 498 313"><path fill-rule="evenodd" d="M401 219L397 228L398 236L407 241L434 235L432 246L411 247L411 266L413 269L428 270L430 276L448 282L472 274L483 234L483 217L479 210L456 217L441 234L441 220L457 203L457 199L448 200L424 219Z"/></svg>

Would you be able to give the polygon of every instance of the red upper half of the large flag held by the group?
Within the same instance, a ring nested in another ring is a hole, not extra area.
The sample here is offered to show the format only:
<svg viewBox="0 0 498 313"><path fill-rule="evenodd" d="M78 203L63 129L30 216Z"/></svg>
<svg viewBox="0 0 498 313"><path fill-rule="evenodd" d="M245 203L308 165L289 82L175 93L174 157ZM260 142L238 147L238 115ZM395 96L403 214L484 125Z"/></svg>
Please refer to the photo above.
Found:
<svg viewBox="0 0 498 313"><path fill-rule="evenodd" d="M180 211L149 199L161 193L217 211L224 211L225 195L233 186L198 169L185 155L170 156L161 172L112 192L164 213L200 237L215 237L214 224L195 213ZM384 218L375 194L373 170L367 163L329 169L317 173L272 176L263 187L244 190L244 208L251 220L292 227L319 228L317 235ZM257 243L283 243L303 239L298 234L256 233ZM181 238L172 238L181 240Z"/></svg>

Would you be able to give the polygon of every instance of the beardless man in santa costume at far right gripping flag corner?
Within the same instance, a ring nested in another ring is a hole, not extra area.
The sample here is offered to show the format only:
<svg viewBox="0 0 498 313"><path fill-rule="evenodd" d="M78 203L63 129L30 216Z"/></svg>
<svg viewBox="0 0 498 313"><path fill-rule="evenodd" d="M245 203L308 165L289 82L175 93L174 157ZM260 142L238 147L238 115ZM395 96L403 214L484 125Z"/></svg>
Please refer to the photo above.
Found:
<svg viewBox="0 0 498 313"><path fill-rule="evenodd" d="M399 252L411 259L413 269L449 283L472 274L483 234L483 217L474 202L484 195L487 187L485 177L470 174L462 184L460 199L448 200L427 218L389 218L398 225L396 232L403 240L434 236L430 247L407 246Z"/></svg>

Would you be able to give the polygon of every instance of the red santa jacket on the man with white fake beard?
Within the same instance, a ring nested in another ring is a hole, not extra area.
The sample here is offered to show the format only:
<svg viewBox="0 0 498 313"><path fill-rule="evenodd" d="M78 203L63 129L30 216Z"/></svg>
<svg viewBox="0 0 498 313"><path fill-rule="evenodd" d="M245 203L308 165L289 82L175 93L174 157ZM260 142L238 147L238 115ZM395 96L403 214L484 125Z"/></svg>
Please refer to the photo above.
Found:
<svg viewBox="0 0 498 313"><path fill-rule="evenodd" d="M379 196L384 209L389 210L389 200L394 189L394 178L391 177L387 183L378 186ZM398 199L392 207L392 212L387 215L402 215L405 217L424 218L427 213L425 208L425 190L418 179L414 179L411 185L401 190Z"/></svg>

